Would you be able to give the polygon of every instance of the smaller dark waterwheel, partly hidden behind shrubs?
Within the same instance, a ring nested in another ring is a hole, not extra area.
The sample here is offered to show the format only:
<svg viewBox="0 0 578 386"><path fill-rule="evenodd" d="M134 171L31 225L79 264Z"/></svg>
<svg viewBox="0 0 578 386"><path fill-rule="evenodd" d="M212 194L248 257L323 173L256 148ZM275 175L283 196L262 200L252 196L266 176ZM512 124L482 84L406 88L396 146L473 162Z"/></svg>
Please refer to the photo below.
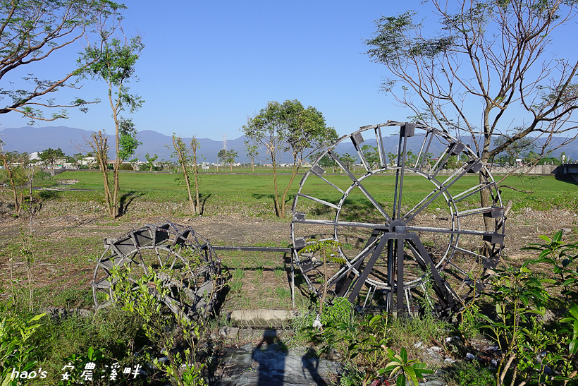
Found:
<svg viewBox="0 0 578 386"><path fill-rule="evenodd" d="M214 308L223 284L220 260L209 242L191 227L171 222L147 225L104 242L106 251L97 261L92 281L97 308L114 298L113 266L130 267L133 282L158 270L163 286L169 289L159 300L184 318L192 320Z"/></svg>

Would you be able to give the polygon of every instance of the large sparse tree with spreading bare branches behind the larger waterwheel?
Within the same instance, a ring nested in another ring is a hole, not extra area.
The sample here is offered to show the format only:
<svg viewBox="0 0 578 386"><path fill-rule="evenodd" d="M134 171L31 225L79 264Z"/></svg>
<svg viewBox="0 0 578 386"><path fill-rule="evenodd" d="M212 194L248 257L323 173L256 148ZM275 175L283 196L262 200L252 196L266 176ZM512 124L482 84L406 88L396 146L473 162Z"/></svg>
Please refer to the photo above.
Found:
<svg viewBox="0 0 578 386"><path fill-rule="evenodd" d="M573 1L432 4L441 27L435 36L411 11L376 20L367 54L388 70L385 92L417 119L469 136L484 163L522 138L542 138L541 155L555 137L566 136L558 147L576 138L578 61L548 55L553 32L576 16Z"/></svg>

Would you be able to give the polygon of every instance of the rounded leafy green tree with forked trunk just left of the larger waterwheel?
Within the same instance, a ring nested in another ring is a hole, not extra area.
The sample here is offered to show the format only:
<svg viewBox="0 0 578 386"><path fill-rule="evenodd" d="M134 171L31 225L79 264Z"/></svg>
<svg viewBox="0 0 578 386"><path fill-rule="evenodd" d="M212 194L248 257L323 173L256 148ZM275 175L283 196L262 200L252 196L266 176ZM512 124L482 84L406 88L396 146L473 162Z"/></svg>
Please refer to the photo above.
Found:
<svg viewBox="0 0 578 386"><path fill-rule="evenodd" d="M303 107L297 100L286 100L283 104L269 102L267 107L247 120L242 127L252 143L266 148L273 164L273 201L278 217L285 217L285 198L303 162L321 147L337 139L334 128L325 126L325 119L314 107ZM293 156L293 170L289 183L279 194L277 185L277 163L281 151Z"/></svg>

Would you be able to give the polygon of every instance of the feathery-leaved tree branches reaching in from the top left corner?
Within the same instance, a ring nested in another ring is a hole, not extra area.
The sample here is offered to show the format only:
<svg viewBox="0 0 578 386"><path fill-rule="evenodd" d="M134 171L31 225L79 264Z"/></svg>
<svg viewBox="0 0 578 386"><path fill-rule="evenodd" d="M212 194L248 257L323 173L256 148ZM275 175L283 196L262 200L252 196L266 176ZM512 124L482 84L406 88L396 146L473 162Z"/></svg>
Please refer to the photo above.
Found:
<svg viewBox="0 0 578 386"><path fill-rule="evenodd" d="M0 81L11 74L27 74L16 87L8 81L0 84L0 96L6 99L0 105L0 114L16 111L32 121L53 121L66 118L68 107L85 111L89 102L82 98L63 104L44 98L62 88L78 89L76 76L93 61L73 71L63 71L56 80L35 77L28 65L55 58L58 52L66 51L70 44L80 42L91 32L98 37L111 33L124 8L109 0L0 1ZM63 66L66 68L66 64ZM45 117L43 109L59 111Z"/></svg>

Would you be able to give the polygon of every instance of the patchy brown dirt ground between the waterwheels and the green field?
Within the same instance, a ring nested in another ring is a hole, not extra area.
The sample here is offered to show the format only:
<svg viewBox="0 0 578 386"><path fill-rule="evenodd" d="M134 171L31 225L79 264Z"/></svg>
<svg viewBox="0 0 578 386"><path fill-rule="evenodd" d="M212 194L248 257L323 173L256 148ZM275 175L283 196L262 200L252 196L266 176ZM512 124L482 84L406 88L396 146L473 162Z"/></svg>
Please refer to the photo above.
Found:
<svg viewBox="0 0 578 386"><path fill-rule="evenodd" d="M88 290L94 272L94 261L102 254L102 240L117 237L130 229L144 224L165 221L188 224L214 245L255 246L273 242L276 246L289 246L290 228L288 221L247 217L235 212L203 217L183 215L182 205L169 203L158 207L147 202L132 203L127 214L111 221L104 207L98 203L70 203L62 200L48 201L35 217L33 245L35 253L35 278L37 287L45 288L44 303L56 298L56 292L67 289ZM567 210L539 212L527 207L519 212L510 212L506 222L505 260L519 265L532 256L531 251L522 251L528 243L539 242L538 236L551 236L560 229L565 230L565 239L578 238L578 216ZM26 265L21 255L20 232L28 231L28 219L15 219L8 214L0 216L0 286L5 291L14 279L25 282ZM231 308L289 308L290 298L279 303L278 288L288 290L288 275L275 275L273 270L283 267L288 272L288 255L270 255L266 260L257 256L228 255L220 253L223 265L233 258L245 259L247 272L242 279L245 292L232 297ZM251 263L251 259L254 262ZM257 298L247 298L255 289L261 292ZM277 294L276 294L277 291ZM286 293L286 291L285 291ZM236 298L236 300L235 300ZM275 300L277 299L277 300ZM60 299L58 302L66 301ZM277 303L275 303L277 301ZM49 304L47 304L49 305ZM73 306L71 304L70 306Z"/></svg>

